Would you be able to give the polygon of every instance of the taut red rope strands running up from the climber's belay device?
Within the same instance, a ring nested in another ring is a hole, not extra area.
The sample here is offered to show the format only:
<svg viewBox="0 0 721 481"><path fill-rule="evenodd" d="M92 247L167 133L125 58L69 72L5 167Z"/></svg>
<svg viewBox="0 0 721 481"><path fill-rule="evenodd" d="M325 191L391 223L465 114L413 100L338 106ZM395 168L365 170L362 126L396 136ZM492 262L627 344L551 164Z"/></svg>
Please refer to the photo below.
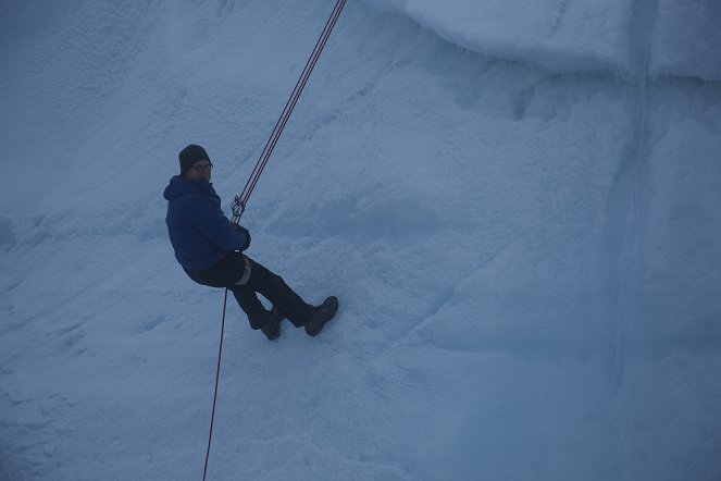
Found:
<svg viewBox="0 0 721 481"><path fill-rule="evenodd" d="M308 78L310 78L310 74L313 72L313 69L318 63L318 59L321 57L321 52L323 51L325 44L328 41L328 37L331 36L331 33L333 32L333 28L335 27L335 24L338 21L338 17L340 16L340 12L343 11L345 4L346 0L337 0L335 7L333 8L331 16L325 22L325 27L323 28L323 33L315 42L313 52L306 62L306 66L303 67L303 71L300 74L298 82L296 82L296 86L293 89L293 92L290 94L290 97L288 98L288 101L286 102L283 112L281 113L281 118L275 123L275 127L273 127L273 132L271 133L271 136L268 138L268 141L265 143L265 147L263 147L263 151L261 152L258 162L256 162L256 166L253 168L253 171L250 174L248 182L246 182L246 186L243 188L243 193L239 196L239 202L243 206L243 208L245 208L245 206L248 203L250 194L252 194L253 189L256 188L256 184L258 184L258 180L260 178L260 175L263 173L265 164L268 163L268 160L271 158L271 153L273 153L273 149L275 148L278 138L281 138L281 134L283 133L285 125L288 123L288 119L290 119L290 114L293 113L293 110L296 108L296 103L298 102L298 99L300 98L303 88L306 88Z"/></svg>

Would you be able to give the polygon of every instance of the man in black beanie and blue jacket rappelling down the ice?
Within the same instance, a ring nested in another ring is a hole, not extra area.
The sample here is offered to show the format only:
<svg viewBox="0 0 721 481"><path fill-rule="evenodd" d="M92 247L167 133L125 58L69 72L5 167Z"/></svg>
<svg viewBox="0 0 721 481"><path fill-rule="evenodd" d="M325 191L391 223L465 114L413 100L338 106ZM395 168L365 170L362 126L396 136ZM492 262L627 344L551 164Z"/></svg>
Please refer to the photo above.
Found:
<svg viewBox="0 0 721 481"><path fill-rule="evenodd" d="M281 335L281 321L286 317L308 335L320 333L335 316L338 299L331 296L313 307L281 276L244 255L250 233L232 224L221 210L221 199L210 183L213 164L206 149L191 144L178 158L181 175L171 178L163 197L167 200L167 233L186 274L198 284L231 289L250 326L260 329L270 341ZM273 304L271 310L263 307L258 294Z"/></svg>

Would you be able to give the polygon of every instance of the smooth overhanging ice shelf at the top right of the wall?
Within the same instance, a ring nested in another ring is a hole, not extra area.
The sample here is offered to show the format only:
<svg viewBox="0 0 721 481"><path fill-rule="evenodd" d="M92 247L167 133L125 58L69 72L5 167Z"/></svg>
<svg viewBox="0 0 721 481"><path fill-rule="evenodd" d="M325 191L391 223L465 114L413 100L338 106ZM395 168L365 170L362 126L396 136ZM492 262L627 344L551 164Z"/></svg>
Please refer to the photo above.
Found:
<svg viewBox="0 0 721 481"><path fill-rule="evenodd" d="M716 0L366 1L405 13L460 47L557 72L721 79Z"/></svg>

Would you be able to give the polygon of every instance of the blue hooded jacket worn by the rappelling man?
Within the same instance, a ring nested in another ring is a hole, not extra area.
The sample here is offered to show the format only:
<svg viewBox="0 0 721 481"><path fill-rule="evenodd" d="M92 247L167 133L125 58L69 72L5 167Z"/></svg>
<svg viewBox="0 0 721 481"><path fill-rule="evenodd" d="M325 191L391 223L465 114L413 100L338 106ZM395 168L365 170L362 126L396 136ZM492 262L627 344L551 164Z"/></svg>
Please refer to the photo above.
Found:
<svg viewBox="0 0 721 481"><path fill-rule="evenodd" d="M231 227L210 182L190 182L175 175L163 197L167 200L167 234L175 258L184 268L202 271L217 262L223 252L248 248L249 237Z"/></svg>

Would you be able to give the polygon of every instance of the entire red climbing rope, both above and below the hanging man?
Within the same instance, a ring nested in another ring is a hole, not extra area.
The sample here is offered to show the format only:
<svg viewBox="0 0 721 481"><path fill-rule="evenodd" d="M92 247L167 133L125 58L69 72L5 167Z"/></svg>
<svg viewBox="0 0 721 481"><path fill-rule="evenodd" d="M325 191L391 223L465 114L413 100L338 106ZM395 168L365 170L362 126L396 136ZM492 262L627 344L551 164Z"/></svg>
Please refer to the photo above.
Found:
<svg viewBox="0 0 721 481"><path fill-rule="evenodd" d="M243 193L239 196L235 197L235 200L233 202L233 219L231 220L232 223L234 224L240 223L240 215L243 215L243 212L246 210L246 206L248 205L248 199L250 198L250 194L252 194L253 189L256 188L256 184L258 184L258 180L260 178L260 175L263 173L263 169L265 169L265 164L268 163L268 160L271 158L271 153L273 153L275 144L277 144L278 138L281 138L281 134L285 128L285 124L287 124L288 119L290 119L290 114L293 113L293 109L295 109L296 103L300 98L300 94L302 94L303 88L306 88L308 78L310 77L310 74L313 72L315 63L318 62L318 59L321 57L321 52L323 51L325 44L328 41L331 32L333 32L333 27L335 27L335 24L338 21L338 17L340 16L340 12L343 11L345 4L346 0L337 0L335 7L333 8L331 16L325 22L325 27L323 28L321 36L315 42L313 52L308 59L308 62L306 62L306 66L303 67L303 71L300 74L298 82L296 82L296 87L293 89L293 92L290 94L290 97L288 98L288 101L286 102L285 108L281 113L281 118L275 123L275 127L273 128L271 136L265 143L265 147L263 147L263 151L261 152L258 162L256 162L256 166L253 168L253 171L250 174L248 182L246 182L246 186L243 188ZM220 349L217 350L217 369L215 370L215 393L213 395L213 411L210 418L210 434L208 435L208 449L206 451L206 467L202 471L203 481L206 481L206 476L208 473L208 460L210 459L210 444L213 440L213 422L215 421L215 403L217 402L217 384L221 377L221 358L223 356L223 333L225 331L225 308L227 305L227 291L228 289L226 288L225 297L223 298L221 346Z"/></svg>

